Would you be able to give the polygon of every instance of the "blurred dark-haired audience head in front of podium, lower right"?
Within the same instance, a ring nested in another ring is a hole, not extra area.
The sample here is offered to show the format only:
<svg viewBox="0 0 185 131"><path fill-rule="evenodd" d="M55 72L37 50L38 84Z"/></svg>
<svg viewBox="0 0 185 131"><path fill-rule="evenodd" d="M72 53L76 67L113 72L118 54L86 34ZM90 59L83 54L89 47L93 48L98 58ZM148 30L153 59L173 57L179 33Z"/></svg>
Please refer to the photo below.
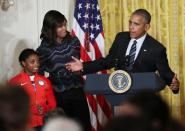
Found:
<svg viewBox="0 0 185 131"><path fill-rule="evenodd" d="M135 93L122 103L119 112L123 116L143 117L156 129L165 128L170 116L162 98L149 91Z"/></svg>

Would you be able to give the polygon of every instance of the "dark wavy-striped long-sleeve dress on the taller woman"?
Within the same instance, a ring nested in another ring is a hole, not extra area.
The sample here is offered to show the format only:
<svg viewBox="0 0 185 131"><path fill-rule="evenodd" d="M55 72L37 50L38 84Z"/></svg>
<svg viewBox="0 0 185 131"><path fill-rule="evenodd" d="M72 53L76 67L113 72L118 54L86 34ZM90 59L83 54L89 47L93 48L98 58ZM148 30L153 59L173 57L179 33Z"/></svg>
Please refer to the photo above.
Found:
<svg viewBox="0 0 185 131"><path fill-rule="evenodd" d="M62 107L67 116L79 120L90 131L88 104L83 92L83 78L77 73L69 72L65 64L71 57L80 58L80 42L77 37L69 34L61 43L49 44L42 40L37 52L40 55L40 74L49 73L57 105Z"/></svg>

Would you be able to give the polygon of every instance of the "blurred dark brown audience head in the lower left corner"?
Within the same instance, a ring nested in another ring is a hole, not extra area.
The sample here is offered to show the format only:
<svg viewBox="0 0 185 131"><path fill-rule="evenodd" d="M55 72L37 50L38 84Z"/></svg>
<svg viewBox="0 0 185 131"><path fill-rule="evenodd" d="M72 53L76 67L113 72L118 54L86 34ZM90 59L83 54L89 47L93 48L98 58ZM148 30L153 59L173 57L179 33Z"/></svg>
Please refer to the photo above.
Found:
<svg viewBox="0 0 185 131"><path fill-rule="evenodd" d="M4 128L3 131L26 129L29 121L29 105L29 96L24 89L18 86L0 85L0 128Z"/></svg>

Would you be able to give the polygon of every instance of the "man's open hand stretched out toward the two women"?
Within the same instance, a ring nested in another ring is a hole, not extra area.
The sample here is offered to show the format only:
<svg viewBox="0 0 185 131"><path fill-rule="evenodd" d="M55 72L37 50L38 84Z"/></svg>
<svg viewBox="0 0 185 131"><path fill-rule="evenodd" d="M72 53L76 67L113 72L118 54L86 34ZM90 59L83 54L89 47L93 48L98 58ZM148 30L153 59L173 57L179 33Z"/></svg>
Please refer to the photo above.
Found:
<svg viewBox="0 0 185 131"><path fill-rule="evenodd" d="M66 69L69 70L69 71L72 71L72 72L76 72L76 71L82 70L83 69L82 62L79 59L77 59L77 58L75 58L73 56L72 56L72 59L73 59L73 61L65 64Z"/></svg>

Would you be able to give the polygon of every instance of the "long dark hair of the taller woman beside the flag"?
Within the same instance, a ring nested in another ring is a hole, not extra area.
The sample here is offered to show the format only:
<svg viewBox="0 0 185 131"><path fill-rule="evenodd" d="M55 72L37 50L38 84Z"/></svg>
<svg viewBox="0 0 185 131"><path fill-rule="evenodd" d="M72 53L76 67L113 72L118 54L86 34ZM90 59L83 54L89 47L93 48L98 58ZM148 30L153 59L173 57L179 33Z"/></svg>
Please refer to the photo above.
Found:
<svg viewBox="0 0 185 131"><path fill-rule="evenodd" d="M57 37L56 28L60 27L65 21L67 19L59 11L48 11L44 16L40 39L48 41L49 44L55 43Z"/></svg>

